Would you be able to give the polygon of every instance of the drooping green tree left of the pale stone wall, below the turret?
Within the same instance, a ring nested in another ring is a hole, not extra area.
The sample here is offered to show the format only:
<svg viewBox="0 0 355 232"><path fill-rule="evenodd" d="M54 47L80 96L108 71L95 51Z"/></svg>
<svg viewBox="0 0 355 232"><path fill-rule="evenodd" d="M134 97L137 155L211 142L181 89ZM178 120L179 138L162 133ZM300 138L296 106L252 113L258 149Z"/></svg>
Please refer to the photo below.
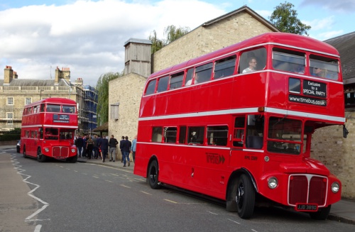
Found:
<svg viewBox="0 0 355 232"><path fill-rule="evenodd" d="M122 77L124 72L107 72L102 74L101 77L97 80L96 89L98 92L97 99L97 125L101 126L102 124L109 121L109 81Z"/></svg>

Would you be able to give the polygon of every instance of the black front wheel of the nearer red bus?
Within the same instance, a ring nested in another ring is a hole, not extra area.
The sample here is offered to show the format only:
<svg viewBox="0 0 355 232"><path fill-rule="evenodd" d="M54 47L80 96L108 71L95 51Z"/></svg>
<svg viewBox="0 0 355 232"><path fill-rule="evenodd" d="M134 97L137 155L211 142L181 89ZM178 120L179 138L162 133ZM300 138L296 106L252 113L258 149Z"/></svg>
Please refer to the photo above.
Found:
<svg viewBox="0 0 355 232"><path fill-rule="evenodd" d="M242 219L249 219L253 215L255 206L255 189L251 179L241 175L236 184L236 208Z"/></svg>

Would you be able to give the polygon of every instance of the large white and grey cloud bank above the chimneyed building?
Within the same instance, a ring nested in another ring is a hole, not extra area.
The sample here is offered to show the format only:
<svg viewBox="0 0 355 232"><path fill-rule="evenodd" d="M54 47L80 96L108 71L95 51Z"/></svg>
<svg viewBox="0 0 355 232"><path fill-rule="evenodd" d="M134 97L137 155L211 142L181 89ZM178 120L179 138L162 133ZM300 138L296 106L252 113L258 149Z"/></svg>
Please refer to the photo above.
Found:
<svg viewBox="0 0 355 232"><path fill-rule="evenodd" d="M101 74L124 69L129 38L147 39L153 30L163 38L166 26L192 30L224 13L198 0L80 0L7 9L0 11L0 68L11 65L21 79L48 79L50 67L52 75L57 66L70 67L72 81L82 77L95 85Z"/></svg>

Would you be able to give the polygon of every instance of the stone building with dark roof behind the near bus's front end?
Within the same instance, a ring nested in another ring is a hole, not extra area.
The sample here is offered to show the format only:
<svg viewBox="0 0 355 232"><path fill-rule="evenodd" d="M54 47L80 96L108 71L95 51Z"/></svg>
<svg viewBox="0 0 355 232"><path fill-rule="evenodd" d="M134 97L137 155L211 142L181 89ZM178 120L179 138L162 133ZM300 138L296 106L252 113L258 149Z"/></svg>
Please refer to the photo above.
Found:
<svg viewBox="0 0 355 232"><path fill-rule="evenodd" d="M342 197L355 199L355 32L325 40L337 48L344 80L347 138L342 126L317 130L312 136L312 158L320 160L342 181Z"/></svg>

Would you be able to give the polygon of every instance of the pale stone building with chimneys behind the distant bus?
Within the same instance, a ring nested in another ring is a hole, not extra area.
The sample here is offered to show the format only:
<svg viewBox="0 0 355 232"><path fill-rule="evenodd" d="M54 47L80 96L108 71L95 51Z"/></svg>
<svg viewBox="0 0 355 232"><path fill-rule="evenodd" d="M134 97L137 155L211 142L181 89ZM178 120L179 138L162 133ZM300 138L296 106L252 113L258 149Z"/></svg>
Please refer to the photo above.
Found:
<svg viewBox="0 0 355 232"><path fill-rule="evenodd" d="M57 67L54 79L18 79L12 67L6 66L4 79L0 79L0 133L21 128L24 106L48 97L69 98L77 102L81 132L97 127L96 118L89 117L93 112L96 115L97 92L84 86L81 78L72 84L69 67L62 70ZM94 109L87 105L94 105Z"/></svg>

